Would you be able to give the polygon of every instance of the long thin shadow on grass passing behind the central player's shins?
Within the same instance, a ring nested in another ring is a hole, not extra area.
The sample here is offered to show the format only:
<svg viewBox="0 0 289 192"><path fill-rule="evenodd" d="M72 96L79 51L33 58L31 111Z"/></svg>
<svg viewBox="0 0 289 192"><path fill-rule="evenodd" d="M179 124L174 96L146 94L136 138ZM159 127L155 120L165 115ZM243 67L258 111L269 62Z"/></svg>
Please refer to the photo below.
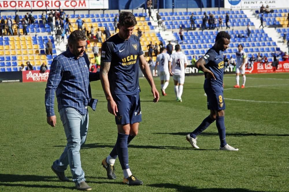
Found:
<svg viewBox="0 0 289 192"><path fill-rule="evenodd" d="M55 145L53 147L65 147L64 145ZM105 145L101 143L88 143L84 144L81 149L91 149L91 148L113 148L114 145ZM177 149L177 150L190 150L192 147L177 147L177 146L153 146L153 145L129 145L129 148L136 149Z"/></svg>

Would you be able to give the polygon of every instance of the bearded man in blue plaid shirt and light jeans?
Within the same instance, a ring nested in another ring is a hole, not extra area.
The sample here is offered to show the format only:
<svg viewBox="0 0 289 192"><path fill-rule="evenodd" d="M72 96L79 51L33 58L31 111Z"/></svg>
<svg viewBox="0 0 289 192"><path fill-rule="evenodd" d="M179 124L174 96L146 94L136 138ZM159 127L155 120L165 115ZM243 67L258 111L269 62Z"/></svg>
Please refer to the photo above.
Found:
<svg viewBox="0 0 289 192"><path fill-rule="evenodd" d="M99 73L89 72L89 60L84 52L86 35L73 31L68 38L68 49L54 58L45 89L47 123L56 125L54 113L54 92L58 102L60 119L64 126L67 145L60 158L53 162L51 169L61 181L69 181L64 171L69 164L76 189L90 191L81 168L80 146L86 140L88 110L96 108L97 99L90 94L90 81L99 80Z"/></svg>

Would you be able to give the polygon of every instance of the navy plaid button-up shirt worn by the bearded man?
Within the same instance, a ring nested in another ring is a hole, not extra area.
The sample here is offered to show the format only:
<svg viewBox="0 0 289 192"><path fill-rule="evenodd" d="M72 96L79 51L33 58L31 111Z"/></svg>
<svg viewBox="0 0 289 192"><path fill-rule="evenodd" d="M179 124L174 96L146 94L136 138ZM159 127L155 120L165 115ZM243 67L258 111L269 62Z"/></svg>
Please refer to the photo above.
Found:
<svg viewBox="0 0 289 192"><path fill-rule="evenodd" d="M54 92L58 111L63 107L73 107L80 114L87 114L87 106L96 108L97 99L90 98L90 81L99 80L99 73L89 72L87 55L78 59L67 49L53 59L45 89L47 117L55 115Z"/></svg>

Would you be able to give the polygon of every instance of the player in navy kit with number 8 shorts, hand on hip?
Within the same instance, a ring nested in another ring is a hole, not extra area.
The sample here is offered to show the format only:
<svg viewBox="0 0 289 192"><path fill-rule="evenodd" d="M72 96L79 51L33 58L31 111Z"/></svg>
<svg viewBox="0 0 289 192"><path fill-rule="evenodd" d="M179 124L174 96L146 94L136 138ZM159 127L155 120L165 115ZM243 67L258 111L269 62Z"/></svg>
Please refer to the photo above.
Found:
<svg viewBox="0 0 289 192"><path fill-rule="evenodd" d="M225 128L225 101L223 96L223 72L224 59L223 51L229 47L230 35L221 31L217 34L215 44L208 50L205 56L201 57L196 66L199 70L205 73L204 90L207 94L207 104L210 110L210 115L193 132L186 136L193 148L199 149L197 146L197 135L203 132L211 123L216 120L216 126L220 137L220 150L238 151L231 147L226 142Z"/></svg>

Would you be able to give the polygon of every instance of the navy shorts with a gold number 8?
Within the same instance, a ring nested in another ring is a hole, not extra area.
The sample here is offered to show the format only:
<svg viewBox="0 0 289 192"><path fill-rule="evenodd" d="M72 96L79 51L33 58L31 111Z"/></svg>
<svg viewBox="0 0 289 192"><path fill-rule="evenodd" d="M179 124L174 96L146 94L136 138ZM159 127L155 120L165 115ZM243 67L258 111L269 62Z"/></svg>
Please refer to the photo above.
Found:
<svg viewBox="0 0 289 192"><path fill-rule="evenodd" d="M218 86L204 86L207 94L207 105L209 110L221 111L226 109L223 96L223 87Z"/></svg>

